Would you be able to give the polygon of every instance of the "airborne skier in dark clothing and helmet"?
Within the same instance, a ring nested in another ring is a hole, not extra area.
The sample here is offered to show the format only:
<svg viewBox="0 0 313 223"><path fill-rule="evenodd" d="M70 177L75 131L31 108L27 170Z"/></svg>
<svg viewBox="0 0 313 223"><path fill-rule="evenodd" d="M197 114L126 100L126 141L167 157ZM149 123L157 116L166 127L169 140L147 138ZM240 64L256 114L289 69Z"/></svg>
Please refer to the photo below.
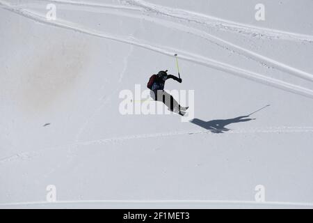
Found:
<svg viewBox="0 0 313 223"><path fill-rule="evenodd" d="M168 75L168 70L161 70L157 75L152 75L147 84L147 88L151 90L151 97L159 102L163 102L171 112L177 112L184 116L188 107L182 107L179 103L166 91L164 91L164 84L167 79L175 79L175 81L182 83L182 79L174 75Z"/></svg>

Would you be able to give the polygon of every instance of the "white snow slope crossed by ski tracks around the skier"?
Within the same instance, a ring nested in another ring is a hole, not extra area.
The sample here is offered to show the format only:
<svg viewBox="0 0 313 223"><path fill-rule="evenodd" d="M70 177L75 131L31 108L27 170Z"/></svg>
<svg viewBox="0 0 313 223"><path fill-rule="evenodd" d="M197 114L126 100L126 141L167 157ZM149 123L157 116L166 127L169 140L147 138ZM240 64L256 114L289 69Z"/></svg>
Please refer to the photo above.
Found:
<svg viewBox="0 0 313 223"><path fill-rule="evenodd" d="M313 207L313 1L0 6L0 208ZM175 53L166 89L194 90L207 129L119 112Z"/></svg>

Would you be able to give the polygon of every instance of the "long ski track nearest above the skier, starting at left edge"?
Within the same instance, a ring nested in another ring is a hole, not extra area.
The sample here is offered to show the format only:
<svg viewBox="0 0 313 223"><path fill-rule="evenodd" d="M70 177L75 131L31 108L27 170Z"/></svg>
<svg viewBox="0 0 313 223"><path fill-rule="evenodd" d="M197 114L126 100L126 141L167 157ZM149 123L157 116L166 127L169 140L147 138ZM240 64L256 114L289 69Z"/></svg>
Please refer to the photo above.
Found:
<svg viewBox="0 0 313 223"><path fill-rule="evenodd" d="M305 89L301 86L297 86L295 84L290 84L288 82L284 82L284 81L281 81L279 79L266 77L266 76L260 75L256 72L250 72L248 70L244 70L241 68L230 66L227 63L223 63L220 61L214 61L214 60L208 59L204 56L199 56L197 54L191 54L191 53L183 52L183 51L179 52L179 51L172 49L170 47L161 47L158 45L145 44L145 43L143 43L143 41L137 40L136 38L132 38L132 37L122 38L119 36L113 36L113 35L110 35L108 33L103 33L103 32L95 31L92 29L87 29L86 27L79 26L79 24L73 24L71 22L67 22L64 20L48 21L48 20L46 20L45 17L42 17L36 13L32 13L29 10L23 10L23 9L15 8L13 6L10 6L10 4L5 3L2 0L0 0L0 6L2 6L6 10L9 10L13 13L17 13L18 15L22 15L24 17L28 17L29 19L35 20L36 22L40 22L42 24L49 24L51 26L55 26L58 28L70 29L72 31L85 33L85 34L88 34L90 36L96 36L99 38L106 38L109 40L115 40L115 41L118 41L120 43L136 45L138 47L142 47L144 49L149 49L149 50L154 51L154 52L159 52L159 53L165 54L167 56L172 56L173 54L178 53L180 59L184 59L186 61L191 61L193 63L198 63L202 66L207 66L210 68L216 68L217 70L223 70L223 71L229 72L230 74L233 74L233 75L244 77L246 79L251 79L255 82L266 84L268 86L274 86L275 88L278 88L278 89L283 89L285 91L296 93L298 95L304 95L306 97L313 98L313 91L310 89Z"/></svg>

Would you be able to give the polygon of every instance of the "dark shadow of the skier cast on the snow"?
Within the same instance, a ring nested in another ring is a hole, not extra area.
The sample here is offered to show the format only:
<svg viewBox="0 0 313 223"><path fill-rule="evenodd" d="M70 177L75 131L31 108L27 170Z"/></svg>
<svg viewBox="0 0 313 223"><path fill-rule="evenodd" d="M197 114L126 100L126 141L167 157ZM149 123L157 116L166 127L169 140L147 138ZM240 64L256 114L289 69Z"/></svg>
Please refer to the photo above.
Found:
<svg viewBox="0 0 313 223"><path fill-rule="evenodd" d="M210 130L213 133L224 133L230 130L228 128L225 128L226 125L230 125L232 123L241 123L245 121L255 120L255 118L248 118L248 117L249 116L239 116L236 118L217 119L217 120L211 120L211 121L203 121L198 118L194 118L190 122L195 125L199 125L200 127L205 128L206 130Z"/></svg>

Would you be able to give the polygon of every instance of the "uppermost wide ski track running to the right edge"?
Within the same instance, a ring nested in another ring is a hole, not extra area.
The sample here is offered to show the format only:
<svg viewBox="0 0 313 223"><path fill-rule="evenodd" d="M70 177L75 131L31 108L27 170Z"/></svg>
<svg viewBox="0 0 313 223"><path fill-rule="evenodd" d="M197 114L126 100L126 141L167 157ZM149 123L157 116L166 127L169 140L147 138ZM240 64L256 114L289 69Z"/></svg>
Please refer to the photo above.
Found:
<svg viewBox="0 0 313 223"><path fill-rule="evenodd" d="M218 17L195 13L189 10L160 6L143 0L123 1L130 5L145 8L146 10L150 10L161 15L166 15L168 17L176 18L179 20L186 20L188 22L195 22L197 24L202 24L210 27L217 27L218 29L224 29L225 31L234 31L236 33L248 34L250 36L313 42L313 36L301 33L292 33L276 29L267 29L257 26L251 26L248 24L241 24L239 22L223 20Z"/></svg>

